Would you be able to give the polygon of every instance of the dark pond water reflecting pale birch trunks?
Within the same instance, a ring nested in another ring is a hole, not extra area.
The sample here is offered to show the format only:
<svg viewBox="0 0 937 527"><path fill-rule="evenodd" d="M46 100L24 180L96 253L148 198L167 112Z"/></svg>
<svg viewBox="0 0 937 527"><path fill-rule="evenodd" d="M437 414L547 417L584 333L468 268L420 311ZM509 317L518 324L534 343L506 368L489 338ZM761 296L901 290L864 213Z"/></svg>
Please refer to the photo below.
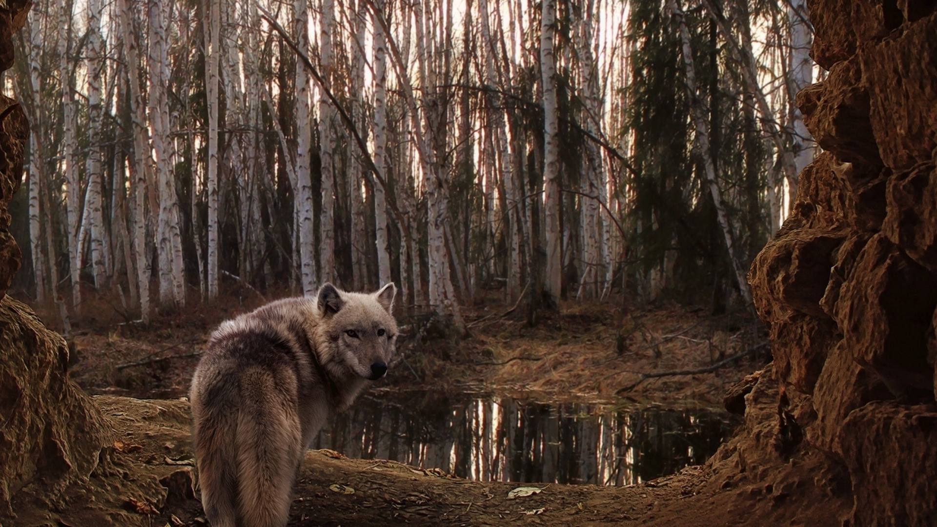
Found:
<svg viewBox="0 0 937 527"><path fill-rule="evenodd" d="M627 485L704 462L737 424L729 414L705 410L365 395L332 419L312 447L470 479Z"/></svg>

